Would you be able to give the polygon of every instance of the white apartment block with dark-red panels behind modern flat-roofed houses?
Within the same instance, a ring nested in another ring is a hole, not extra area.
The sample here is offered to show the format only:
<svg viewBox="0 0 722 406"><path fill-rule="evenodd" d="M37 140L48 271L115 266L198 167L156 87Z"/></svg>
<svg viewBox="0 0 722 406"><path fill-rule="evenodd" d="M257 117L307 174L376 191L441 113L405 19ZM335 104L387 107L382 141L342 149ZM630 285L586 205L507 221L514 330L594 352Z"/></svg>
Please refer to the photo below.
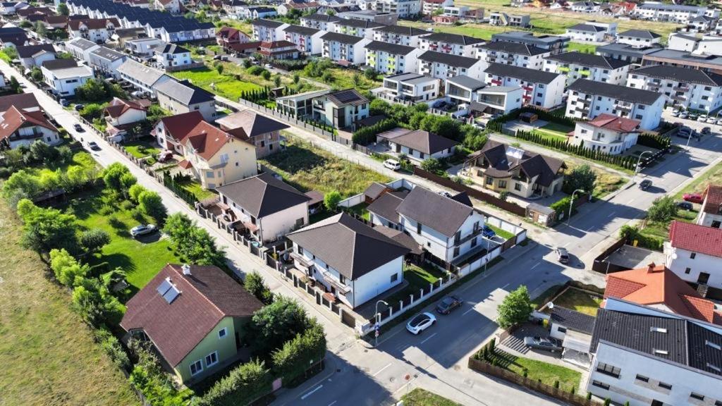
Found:
<svg viewBox="0 0 722 406"><path fill-rule="evenodd" d="M552 108L562 104L565 76L513 65L490 64L484 72L490 86L521 87L522 104Z"/></svg>

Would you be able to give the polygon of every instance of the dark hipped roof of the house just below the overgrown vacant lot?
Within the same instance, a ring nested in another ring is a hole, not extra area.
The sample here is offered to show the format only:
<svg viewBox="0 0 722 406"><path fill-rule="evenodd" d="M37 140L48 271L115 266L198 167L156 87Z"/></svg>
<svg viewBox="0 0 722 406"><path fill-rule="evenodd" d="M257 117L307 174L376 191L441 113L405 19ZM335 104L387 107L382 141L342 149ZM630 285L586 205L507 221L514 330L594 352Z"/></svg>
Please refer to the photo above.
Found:
<svg viewBox="0 0 722 406"><path fill-rule="evenodd" d="M308 202L310 198L270 173L226 183L216 188L253 217L265 217Z"/></svg>

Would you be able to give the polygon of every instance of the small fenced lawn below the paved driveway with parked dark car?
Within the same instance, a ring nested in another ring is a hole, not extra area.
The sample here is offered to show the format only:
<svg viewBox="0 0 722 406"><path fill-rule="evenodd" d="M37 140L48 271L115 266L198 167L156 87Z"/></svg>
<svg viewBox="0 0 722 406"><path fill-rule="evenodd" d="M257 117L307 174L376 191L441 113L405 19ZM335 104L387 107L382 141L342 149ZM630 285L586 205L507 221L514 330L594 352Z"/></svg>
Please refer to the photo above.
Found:
<svg viewBox="0 0 722 406"><path fill-rule="evenodd" d="M527 378L534 380L540 379L542 384L554 385L555 381L559 381L560 389L564 389L567 392L572 388L574 388L575 391L579 389L582 374L573 369L529 358L517 357L498 348L492 357L491 360L497 361L497 366L513 373L518 373L519 375L523 375L524 370L526 370Z"/></svg>

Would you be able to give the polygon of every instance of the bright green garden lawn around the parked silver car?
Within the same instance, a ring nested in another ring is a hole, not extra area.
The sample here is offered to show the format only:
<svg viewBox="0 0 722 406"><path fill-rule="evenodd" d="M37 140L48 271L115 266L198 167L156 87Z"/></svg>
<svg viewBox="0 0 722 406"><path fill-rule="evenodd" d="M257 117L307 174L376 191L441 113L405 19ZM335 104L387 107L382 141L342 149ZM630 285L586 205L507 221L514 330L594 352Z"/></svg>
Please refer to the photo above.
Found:
<svg viewBox="0 0 722 406"><path fill-rule="evenodd" d="M170 251L170 241L160 238L157 241L141 242L131 237L130 229L139 223L154 223L147 217L142 222L135 220L130 210L121 209L118 202L115 207L108 202L103 194L82 194L66 203L66 210L78 217L82 228L100 228L110 234L110 243L103 247L100 254L90 259L90 264L108 264L110 269L121 267L128 273L127 280L134 288L143 288L157 272L169 262L181 262L173 251ZM109 207L108 212L103 207ZM104 214L105 213L105 214ZM160 237L160 233L155 235ZM144 239L147 241L147 239Z"/></svg>

